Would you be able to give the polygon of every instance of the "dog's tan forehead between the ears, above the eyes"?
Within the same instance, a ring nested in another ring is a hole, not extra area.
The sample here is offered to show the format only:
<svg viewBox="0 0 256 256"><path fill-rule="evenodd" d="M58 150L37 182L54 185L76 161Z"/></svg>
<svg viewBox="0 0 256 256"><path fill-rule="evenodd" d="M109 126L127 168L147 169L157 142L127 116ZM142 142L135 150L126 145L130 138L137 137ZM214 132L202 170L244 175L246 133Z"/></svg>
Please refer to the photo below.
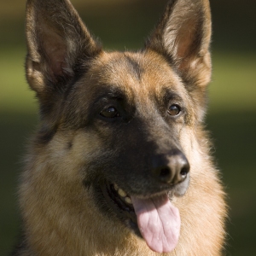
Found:
<svg viewBox="0 0 256 256"><path fill-rule="evenodd" d="M158 95L182 84L165 58L153 51L103 53L87 75L93 76L96 84L115 86L131 96Z"/></svg>

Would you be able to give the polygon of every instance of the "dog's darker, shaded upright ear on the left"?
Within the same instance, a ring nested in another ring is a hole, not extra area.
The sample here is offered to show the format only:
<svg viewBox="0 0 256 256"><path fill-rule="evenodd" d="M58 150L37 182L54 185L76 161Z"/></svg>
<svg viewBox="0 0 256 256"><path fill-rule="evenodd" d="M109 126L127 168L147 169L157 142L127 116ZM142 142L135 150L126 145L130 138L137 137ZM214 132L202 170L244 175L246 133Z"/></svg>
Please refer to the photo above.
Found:
<svg viewBox="0 0 256 256"><path fill-rule="evenodd" d="M65 91L81 62L102 50L69 0L28 0L26 39L27 80L43 103Z"/></svg>

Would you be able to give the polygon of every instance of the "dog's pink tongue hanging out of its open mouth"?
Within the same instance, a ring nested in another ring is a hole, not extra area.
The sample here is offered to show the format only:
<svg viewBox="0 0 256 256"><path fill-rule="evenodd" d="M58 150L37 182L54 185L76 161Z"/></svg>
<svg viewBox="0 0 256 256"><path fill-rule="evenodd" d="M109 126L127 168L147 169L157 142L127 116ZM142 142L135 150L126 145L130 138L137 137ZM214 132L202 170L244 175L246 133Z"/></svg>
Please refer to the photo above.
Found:
<svg viewBox="0 0 256 256"><path fill-rule="evenodd" d="M168 195L140 199L131 196L137 224L148 247L156 253L169 253L177 245L180 217Z"/></svg>

